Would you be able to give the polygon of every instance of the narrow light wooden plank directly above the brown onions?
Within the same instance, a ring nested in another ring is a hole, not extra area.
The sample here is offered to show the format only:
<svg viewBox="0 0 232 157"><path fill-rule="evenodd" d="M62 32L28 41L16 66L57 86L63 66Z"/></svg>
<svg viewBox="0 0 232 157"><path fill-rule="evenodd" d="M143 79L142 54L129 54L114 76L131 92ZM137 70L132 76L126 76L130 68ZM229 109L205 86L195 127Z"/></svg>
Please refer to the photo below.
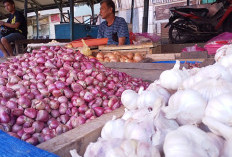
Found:
<svg viewBox="0 0 232 157"><path fill-rule="evenodd" d="M143 48L151 48L155 47L157 44L156 43L143 43L140 45L104 45L104 46L99 46L98 49L103 51L103 50L109 50L109 51L114 51L114 50L129 50L129 49L143 49Z"/></svg>

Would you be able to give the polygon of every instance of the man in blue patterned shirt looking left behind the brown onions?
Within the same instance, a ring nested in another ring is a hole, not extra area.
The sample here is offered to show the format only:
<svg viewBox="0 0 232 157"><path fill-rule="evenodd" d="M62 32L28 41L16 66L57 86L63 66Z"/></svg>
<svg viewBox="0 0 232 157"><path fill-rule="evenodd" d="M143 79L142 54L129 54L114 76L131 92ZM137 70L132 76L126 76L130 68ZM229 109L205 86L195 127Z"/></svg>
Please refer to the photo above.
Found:
<svg viewBox="0 0 232 157"><path fill-rule="evenodd" d="M101 1L100 15L106 21L98 29L98 38L108 38L108 45L130 44L128 26L125 19L115 16L112 0Z"/></svg>

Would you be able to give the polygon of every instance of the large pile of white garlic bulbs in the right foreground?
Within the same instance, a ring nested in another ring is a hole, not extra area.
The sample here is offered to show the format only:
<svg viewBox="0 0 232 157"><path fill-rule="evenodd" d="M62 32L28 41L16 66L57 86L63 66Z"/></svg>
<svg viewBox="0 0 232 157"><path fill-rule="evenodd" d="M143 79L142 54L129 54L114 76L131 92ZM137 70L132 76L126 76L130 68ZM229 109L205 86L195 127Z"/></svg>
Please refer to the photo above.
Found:
<svg viewBox="0 0 232 157"><path fill-rule="evenodd" d="M214 65L180 70L177 61L146 90L124 91L125 114L105 124L84 156L231 157L231 49L219 49Z"/></svg>

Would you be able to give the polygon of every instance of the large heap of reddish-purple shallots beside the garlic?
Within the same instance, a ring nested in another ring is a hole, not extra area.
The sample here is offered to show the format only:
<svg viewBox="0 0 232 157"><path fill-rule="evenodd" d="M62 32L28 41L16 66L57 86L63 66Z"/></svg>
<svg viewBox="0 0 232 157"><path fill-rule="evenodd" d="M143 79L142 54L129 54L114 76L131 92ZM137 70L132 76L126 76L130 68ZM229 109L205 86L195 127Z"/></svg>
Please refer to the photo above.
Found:
<svg viewBox="0 0 232 157"><path fill-rule="evenodd" d="M0 64L0 129L33 145L121 106L148 83L60 46Z"/></svg>

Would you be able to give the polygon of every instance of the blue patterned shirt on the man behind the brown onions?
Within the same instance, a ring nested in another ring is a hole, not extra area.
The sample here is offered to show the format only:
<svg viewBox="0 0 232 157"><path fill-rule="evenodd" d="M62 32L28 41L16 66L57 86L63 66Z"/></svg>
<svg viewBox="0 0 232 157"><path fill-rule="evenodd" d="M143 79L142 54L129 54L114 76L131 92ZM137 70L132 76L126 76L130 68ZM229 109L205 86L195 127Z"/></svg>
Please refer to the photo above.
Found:
<svg viewBox="0 0 232 157"><path fill-rule="evenodd" d="M108 45L118 45L117 40L121 37L126 37L126 45L130 44L128 26L124 18L116 16L110 26L107 25L107 21L100 24L97 38L108 38Z"/></svg>

